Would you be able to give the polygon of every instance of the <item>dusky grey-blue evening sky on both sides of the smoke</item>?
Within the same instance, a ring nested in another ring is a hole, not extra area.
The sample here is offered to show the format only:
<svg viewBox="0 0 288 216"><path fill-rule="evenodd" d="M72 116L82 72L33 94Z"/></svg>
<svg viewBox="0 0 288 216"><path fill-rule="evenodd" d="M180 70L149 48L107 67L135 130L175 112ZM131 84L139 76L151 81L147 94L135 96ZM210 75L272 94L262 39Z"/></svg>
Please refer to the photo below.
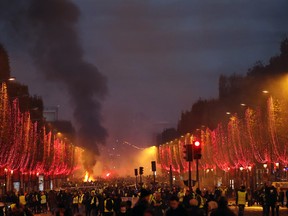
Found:
<svg viewBox="0 0 288 216"><path fill-rule="evenodd" d="M110 144L153 144L153 135L176 127L197 99L218 96L220 74L245 74L257 60L267 62L288 33L286 0L74 2L85 58L108 78L103 121ZM37 73L13 40L0 34L0 41L12 75L72 120L65 89Z"/></svg>

